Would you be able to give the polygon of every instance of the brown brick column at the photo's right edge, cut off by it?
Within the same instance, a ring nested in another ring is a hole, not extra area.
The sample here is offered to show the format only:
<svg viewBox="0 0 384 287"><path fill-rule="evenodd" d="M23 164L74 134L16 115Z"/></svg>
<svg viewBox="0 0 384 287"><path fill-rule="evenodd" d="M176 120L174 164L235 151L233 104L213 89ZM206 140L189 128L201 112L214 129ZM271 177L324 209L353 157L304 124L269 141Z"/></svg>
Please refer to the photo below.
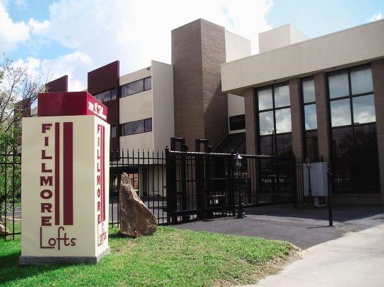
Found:
<svg viewBox="0 0 384 287"><path fill-rule="evenodd" d="M376 131L380 168L381 204L384 205L384 59L371 63L375 93Z"/></svg>

